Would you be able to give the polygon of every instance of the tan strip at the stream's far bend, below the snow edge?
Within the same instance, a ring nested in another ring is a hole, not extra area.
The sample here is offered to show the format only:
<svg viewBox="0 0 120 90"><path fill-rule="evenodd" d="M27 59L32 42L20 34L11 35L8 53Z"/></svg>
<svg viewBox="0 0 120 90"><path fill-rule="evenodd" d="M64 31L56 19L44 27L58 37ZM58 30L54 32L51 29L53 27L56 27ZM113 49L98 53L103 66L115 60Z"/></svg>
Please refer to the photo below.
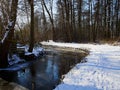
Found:
<svg viewBox="0 0 120 90"><path fill-rule="evenodd" d="M81 48L71 48L71 47L58 47L52 45L42 45L44 48L45 53L52 52L53 54L64 54L64 55L73 55L73 56L80 56L85 57L89 54L87 49Z"/></svg>

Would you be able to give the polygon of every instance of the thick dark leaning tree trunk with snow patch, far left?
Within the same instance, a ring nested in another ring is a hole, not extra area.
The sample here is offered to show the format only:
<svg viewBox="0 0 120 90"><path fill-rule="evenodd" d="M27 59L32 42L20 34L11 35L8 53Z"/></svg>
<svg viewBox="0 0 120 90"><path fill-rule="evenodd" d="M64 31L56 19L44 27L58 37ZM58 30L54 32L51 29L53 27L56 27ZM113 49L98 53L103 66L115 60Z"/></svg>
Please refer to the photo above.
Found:
<svg viewBox="0 0 120 90"><path fill-rule="evenodd" d="M16 17L17 17L17 5L18 5L18 0L12 0L10 23L8 24L6 33L0 43L0 67L1 68L7 67L9 65L8 53L10 50L10 46L12 45L11 41L14 37L14 26L15 26Z"/></svg>

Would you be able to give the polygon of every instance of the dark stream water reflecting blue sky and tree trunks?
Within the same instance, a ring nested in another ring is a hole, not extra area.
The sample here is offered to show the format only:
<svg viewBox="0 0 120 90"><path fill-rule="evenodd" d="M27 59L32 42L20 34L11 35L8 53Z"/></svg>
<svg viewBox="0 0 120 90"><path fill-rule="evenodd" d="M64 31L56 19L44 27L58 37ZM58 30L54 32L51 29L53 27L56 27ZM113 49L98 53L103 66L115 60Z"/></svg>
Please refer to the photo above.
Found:
<svg viewBox="0 0 120 90"><path fill-rule="evenodd" d="M30 90L53 90L60 83L61 76L81 60L82 56L69 53L66 55L49 53L34 62L28 62L29 65L23 69L0 71L0 77Z"/></svg>

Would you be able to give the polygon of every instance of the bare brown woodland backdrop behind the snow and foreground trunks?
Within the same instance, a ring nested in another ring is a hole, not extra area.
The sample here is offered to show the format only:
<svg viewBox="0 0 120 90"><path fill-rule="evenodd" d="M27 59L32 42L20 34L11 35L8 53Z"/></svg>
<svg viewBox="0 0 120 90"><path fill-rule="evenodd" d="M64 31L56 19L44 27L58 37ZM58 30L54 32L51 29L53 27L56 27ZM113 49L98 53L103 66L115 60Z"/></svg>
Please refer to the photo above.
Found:
<svg viewBox="0 0 120 90"><path fill-rule="evenodd" d="M11 0L9 0L11 1ZM0 37L9 17L8 0L0 2ZM18 17L26 18L16 23L16 37L28 42L30 37L29 0L19 0ZM119 40L119 0L34 0L35 42L54 40L65 42L98 42ZM20 19L20 18L19 18Z"/></svg>

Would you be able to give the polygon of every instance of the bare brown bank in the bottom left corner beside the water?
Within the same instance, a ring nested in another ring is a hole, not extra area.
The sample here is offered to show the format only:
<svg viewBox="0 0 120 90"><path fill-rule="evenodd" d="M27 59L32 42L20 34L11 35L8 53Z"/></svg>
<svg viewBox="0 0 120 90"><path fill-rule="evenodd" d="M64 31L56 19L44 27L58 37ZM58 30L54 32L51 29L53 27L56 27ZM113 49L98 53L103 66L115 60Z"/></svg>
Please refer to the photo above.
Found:
<svg viewBox="0 0 120 90"><path fill-rule="evenodd" d="M16 83L8 82L0 78L0 90L28 90Z"/></svg>

